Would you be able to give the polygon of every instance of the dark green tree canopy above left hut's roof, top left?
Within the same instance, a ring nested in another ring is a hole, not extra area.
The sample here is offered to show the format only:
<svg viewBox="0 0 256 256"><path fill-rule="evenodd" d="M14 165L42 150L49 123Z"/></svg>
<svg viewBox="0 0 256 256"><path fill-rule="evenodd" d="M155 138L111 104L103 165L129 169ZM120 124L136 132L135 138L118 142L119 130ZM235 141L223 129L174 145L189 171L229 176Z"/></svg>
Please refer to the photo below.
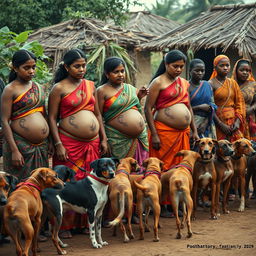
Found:
<svg viewBox="0 0 256 256"><path fill-rule="evenodd" d="M20 33L57 24L73 16L124 20L124 13L137 0L1 0L0 27Z"/></svg>

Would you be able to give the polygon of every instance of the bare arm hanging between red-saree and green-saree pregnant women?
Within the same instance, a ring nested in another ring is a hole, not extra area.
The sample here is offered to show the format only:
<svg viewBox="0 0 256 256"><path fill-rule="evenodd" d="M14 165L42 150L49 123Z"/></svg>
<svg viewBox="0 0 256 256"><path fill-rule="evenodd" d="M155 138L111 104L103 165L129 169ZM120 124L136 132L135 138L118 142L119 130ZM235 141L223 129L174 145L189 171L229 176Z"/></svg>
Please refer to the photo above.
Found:
<svg viewBox="0 0 256 256"><path fill-rule="evenodd" d="M96 89L94 88L94 97L95 97L95 106L94 106L94 114L96 118L98 119L99 125L100 125L100 140L101 140L101 154L105 155L108 151L108 143L107 143L107 136L103 124L103 119L101 113L103 113L103 105L104 105L104 98L100 97L98 98L98 94L100 94L98 91L96 92Z"/></svg>

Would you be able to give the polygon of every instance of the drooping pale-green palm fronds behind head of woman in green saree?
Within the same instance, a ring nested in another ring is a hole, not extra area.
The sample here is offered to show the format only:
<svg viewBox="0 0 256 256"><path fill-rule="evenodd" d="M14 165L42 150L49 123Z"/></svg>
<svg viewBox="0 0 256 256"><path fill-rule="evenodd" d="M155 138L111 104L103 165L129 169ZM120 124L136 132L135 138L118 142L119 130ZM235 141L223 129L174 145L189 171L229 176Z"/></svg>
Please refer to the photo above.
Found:
<svg viewBox="0 0 256 256"><path fill-rule="evenodd" d="M95 77L91 79L96 82L96 86L100 84L101 76L103 74L104 61L107 57L117 56L124 60L126 63L126 81L131 83L131 72L136 71L132 60L130 59L127 51L121 46L110 42L108 44L102 44L95 46L94 50L90 53L88 58L89 68L94 68ZM87 73L88 70L87 70Z"/></svg>

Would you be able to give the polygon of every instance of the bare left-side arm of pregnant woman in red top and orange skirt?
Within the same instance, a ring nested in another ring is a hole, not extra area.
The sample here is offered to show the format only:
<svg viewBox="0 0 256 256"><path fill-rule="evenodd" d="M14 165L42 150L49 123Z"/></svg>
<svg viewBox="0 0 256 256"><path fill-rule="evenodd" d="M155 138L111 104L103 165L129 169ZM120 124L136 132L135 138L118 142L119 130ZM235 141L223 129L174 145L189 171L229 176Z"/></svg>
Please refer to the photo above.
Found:
<svg viewBox="0 0 256 256"><path fill-rule="evenodd" d="M158 133L154 124L154 117L153 117L152 110L155 106L159 92L160 92L160 84L153 81L149 86L149 94L146 98L145 107L144 107L145 117L146 117L147 124L152 136L152 145L153 145L153 148L156 150L160 149L161 142L158 137Z"/></svg>

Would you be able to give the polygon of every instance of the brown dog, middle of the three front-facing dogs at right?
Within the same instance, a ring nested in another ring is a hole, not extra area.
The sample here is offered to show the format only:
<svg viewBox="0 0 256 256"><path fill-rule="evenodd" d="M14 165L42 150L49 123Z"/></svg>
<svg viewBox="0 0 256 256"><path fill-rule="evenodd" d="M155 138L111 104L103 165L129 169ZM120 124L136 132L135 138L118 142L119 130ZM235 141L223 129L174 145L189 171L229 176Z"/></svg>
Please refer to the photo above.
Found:
<svg viewBox="0 0 256 256"><path fill-rule="evenodd" d="M216 212L219 215L220 186L223 184L222 211L228 214L227 196L230 188L231 179L234 175L234 168L231 162L231 156L234 154L233 145L228 140L219 140L216 146L216 157L214 166L217 173L216 180Z"/></svg>

